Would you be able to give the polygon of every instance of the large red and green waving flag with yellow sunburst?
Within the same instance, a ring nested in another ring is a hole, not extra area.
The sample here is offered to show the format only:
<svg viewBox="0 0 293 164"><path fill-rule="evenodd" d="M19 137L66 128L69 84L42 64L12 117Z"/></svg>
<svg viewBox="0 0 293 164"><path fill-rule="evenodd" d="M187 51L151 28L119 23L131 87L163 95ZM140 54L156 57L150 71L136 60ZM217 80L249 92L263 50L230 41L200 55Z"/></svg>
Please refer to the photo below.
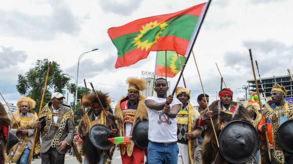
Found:
<svg viewBox="0 0 293 164"><path fill-rule="evenodd" d="M150 51L171 50L187 56L206 4L110 28L109 36L118 50L115 68L145 59Z"/></svg>

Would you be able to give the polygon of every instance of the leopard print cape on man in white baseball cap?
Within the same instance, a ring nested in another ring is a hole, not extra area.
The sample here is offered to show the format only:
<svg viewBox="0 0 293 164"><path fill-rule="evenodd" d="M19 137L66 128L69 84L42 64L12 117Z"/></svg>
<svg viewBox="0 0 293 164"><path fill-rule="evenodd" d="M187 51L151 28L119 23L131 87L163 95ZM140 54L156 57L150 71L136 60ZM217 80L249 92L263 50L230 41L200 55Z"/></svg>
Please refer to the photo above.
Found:
<svg viewBox="0 0 293 164"><path fill-rule="evenodd" d="M62 136L62 133L63 133L63 130L65 128L67 120L70 119L74 124L73 110L70 109L65 114L53 114L50 111L48 104L45 105L44 108L41 111L40 118L47 117L46 126L44 127L44 130L41 132L41 138L44 138L48 134L48 132L49 132L49 130L51 128L51 125L57 126L58 130L56 131L55 136L54 136L54 138L53 138L53 140L51 142L51 146L53 148L55 148L59 143L59 139ZM61 121L59 123L55 123L55 122L52 122L52 116L61 116L62 119L61 119Z"/></svg>

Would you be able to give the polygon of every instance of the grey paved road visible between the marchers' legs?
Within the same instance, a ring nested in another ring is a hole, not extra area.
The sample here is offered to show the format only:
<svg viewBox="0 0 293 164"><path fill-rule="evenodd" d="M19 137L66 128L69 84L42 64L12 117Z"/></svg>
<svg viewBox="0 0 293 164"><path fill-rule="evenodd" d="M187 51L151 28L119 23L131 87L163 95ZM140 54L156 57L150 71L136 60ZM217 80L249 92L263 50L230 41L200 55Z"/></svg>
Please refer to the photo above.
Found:
<svg viewBox="0 0 293 164"><path fill-rule="evenodd" d="M32 164L40 164L40 163L41 163L41 159L35 159L34 161L32 161ZM119 150L118 151L116 150L114 152L112 163L113 164L122 164ZM65 164L80 164L80 163L72 155L65 154Z"/></svg>

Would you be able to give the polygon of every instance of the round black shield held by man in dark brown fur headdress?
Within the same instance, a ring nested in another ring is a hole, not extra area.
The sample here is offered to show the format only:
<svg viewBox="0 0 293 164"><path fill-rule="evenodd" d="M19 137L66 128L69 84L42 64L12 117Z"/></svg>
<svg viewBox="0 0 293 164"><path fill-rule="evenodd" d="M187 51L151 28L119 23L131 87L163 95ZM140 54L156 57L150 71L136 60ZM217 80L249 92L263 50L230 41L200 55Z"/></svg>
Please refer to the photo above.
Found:
<svg viewBox="0 0 293 164"><path fill-rule="evenodd" d="M89 139L99 149L108 150L111 148L113 143L108 139L112 137L111 129L105 125L96 124L89 129Z"/></svg>

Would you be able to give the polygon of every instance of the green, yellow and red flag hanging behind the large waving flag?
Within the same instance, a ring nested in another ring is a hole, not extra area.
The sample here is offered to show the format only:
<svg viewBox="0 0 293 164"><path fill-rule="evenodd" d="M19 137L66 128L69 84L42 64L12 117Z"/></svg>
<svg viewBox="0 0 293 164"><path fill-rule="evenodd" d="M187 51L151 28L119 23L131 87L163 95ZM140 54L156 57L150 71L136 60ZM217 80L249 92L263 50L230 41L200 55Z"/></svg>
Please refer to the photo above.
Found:
<svg viewBox="0 0 293 164"><path fill-rule="evenodd" d="M186 58L178 55L183 67ZM180 71L180 65L177 53L175 51L167 51L167 77L174 77ZM156 75L166 76L165 51L158 51L156 57Z"/></svg>

